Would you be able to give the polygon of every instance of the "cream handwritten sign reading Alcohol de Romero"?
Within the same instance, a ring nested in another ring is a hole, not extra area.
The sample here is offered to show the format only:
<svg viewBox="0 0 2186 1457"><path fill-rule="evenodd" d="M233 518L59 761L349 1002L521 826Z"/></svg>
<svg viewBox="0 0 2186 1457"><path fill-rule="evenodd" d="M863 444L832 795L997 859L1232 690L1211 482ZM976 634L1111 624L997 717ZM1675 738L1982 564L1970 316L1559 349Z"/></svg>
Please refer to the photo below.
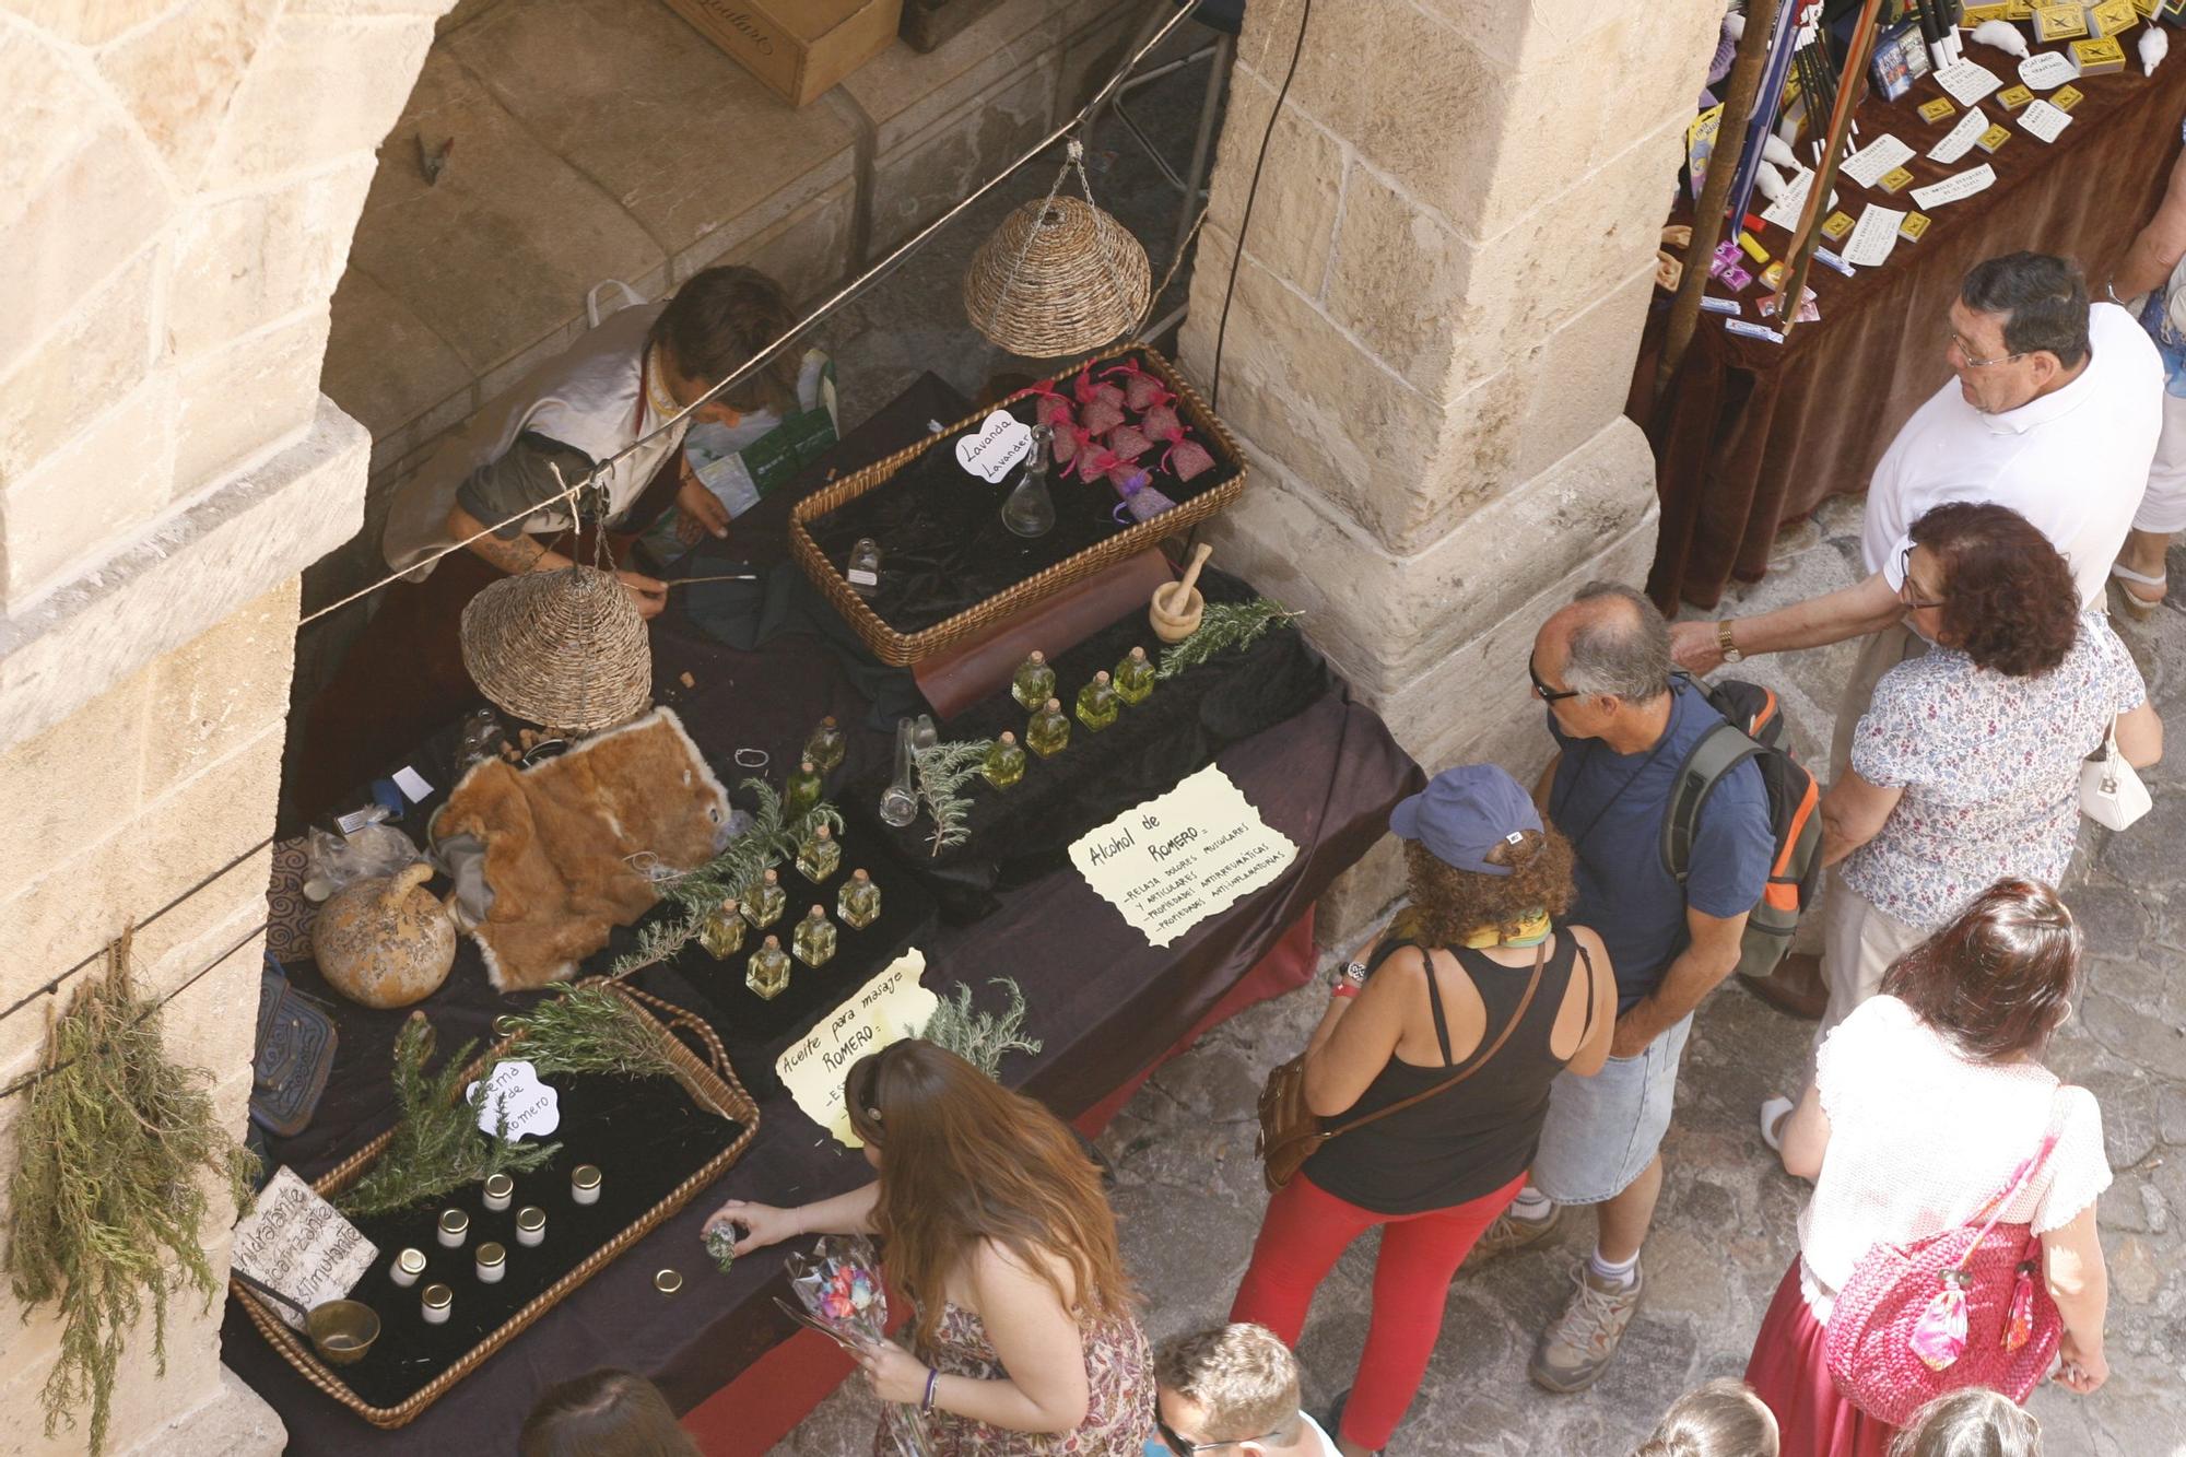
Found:
<svg viewBox="0 0 2186 1457"><path fill-rule="evenodd" d="M1152 945L1172 945L1296 858L1213 764L1071 844L1086 884Z"/></svg>

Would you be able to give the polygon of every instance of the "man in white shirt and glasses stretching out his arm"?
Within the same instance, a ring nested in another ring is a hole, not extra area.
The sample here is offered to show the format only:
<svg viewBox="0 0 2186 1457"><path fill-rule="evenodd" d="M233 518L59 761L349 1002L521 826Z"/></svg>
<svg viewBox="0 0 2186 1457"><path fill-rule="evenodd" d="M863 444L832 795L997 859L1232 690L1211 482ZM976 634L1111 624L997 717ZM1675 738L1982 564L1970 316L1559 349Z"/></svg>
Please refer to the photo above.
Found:
<svg viewBox="0 0 2186 1457"><path fill-rule="evenodd" d="M1876 680L1926 652L1906 626L1908 527L1948 501L1994 501L2066 556L2081 604L2103 602L2162 433L2164 368L2116 304L2090 304L2079 265L2005 254L1965 276L1939 330L1952 378L1913 411L1867 486L1867 580L1758 617L1681 621L1677 661L1696 674L1760 652L1862 637L1830 748L1836 779ZM1827 462L1817 462L1827 468ZM1773 1006L1819 1017L1819 958L1793 954L1747 982Z"/></svg>

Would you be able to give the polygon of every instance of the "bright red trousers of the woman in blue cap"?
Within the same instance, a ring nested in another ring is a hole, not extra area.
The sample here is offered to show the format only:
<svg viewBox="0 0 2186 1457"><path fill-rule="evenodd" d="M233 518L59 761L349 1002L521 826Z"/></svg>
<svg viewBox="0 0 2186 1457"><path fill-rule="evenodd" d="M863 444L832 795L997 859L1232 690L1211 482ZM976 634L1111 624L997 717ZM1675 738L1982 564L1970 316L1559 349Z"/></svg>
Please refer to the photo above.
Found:
<svg viewBox="0 0 2186 1457"><path fill-rule="evenodd" d="M1255 1321L1296 1345L1305 1310L1336 1258L1375 1225L1382 1258L1373 1267L1373 1321L1360 1354L1342 1435L1379 1450L1419 1396L1427 1356L1443 1330L1449 1280L1465 1264L1473 1240L1526 1188L1526 1175L1447 1210L1375 1214L1327 1192L1303 1173L1268 1201L1268 1216L1253 1243L1253 1267L1231 1304L1233 1321Z"/></svg>

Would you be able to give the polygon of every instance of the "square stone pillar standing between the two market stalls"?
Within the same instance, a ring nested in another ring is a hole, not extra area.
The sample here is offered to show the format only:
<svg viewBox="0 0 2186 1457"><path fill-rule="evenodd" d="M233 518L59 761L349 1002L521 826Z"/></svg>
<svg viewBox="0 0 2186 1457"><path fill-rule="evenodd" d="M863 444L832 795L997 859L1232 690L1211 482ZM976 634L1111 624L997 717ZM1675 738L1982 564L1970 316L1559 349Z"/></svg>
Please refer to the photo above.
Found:
<svg viewBox="0 0 2186 1457"><path fill-rule="evenodd" d="M1535 628L1589 578L1642 582L1655 547L1620 411L1723 7L1323 0L1231 298L1301 9L1246 11L1180 343L1202 389L1220 348L1253 457L1215 560L1303 608L1430 772L1526 777ZM1392 890L1384 847L1323 930Z"/></svg>

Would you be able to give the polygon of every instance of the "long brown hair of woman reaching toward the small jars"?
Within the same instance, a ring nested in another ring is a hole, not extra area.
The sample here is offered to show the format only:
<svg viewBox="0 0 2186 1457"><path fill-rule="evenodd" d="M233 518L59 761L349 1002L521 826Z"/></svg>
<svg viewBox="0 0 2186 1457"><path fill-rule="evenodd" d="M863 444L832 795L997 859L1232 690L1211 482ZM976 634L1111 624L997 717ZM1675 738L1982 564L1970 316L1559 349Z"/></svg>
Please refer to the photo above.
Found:
<svg viewBox="0 0 2186 1457"><path fill-rule="evenodd" d="M942 1313L949 1271L995 1240L1069 1308L1049 1256L1071 1267L1084 1319L1130 1313L1130 1280L1100 1170L1045 1107L931 1041L870 1052L844 1079L850 1127L881 1151L874 1232L888 1273L918 1302L918 1339Z"/></svg>

